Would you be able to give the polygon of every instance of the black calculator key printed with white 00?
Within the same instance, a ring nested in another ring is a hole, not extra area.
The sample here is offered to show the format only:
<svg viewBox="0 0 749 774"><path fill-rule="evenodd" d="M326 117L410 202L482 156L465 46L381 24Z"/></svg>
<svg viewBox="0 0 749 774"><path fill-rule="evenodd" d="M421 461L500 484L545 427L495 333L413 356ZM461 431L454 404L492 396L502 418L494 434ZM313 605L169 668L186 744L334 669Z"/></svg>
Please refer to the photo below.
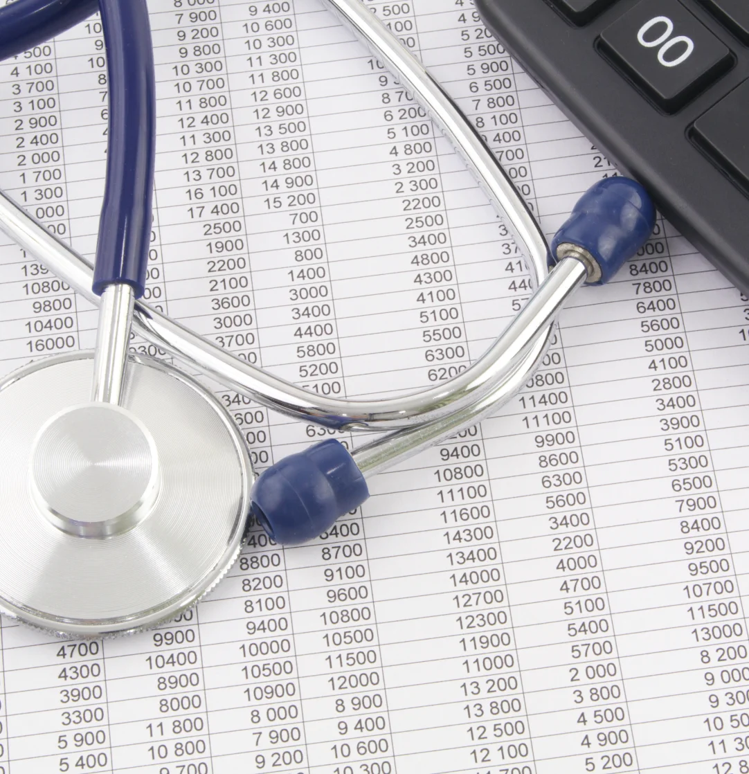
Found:
<svg viewBox="0 0 749 774"><path fill-rule="evenodd" d="M604 30L600 46L668 113L733 63L730 50L679 0L641 0Z"/></svg>

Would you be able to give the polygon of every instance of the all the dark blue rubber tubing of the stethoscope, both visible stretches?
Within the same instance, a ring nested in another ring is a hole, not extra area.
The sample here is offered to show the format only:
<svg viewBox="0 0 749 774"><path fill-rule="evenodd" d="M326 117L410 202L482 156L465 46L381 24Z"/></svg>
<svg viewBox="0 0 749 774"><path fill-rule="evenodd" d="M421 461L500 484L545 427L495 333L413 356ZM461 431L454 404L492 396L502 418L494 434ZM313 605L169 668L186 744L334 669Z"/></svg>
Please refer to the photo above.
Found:
<svg viewBox="0 0 749 774"><path fill-rule="evenodd" d="M97 6L107 48L109 142L94 293L127 283L140 298L148 269L156 156L156 76L145 0L15 0L0 9L0 51L15 55L43 43ZM11 36L16 37L12 43Z"/></svg>

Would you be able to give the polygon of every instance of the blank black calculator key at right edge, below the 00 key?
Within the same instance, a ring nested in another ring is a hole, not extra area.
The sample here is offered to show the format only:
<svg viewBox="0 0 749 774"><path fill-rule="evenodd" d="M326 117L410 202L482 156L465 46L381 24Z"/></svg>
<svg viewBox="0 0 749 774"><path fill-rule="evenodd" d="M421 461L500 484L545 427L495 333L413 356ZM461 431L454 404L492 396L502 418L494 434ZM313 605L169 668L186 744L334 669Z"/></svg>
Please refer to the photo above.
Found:
<svg viewBox="0 0 749 774"><path fill-rule="evenodd" d="M744 185L749 184L749 132L747 132L749 80L713 105L694 124L692 137L720 166Z"/></svg>

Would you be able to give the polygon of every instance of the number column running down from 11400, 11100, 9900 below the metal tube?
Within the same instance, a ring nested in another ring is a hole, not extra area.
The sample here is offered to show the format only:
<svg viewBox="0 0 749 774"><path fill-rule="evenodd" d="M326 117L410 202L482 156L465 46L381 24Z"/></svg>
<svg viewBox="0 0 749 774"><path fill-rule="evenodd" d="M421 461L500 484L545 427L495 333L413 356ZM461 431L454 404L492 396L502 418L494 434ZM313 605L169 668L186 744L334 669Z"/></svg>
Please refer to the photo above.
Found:
<svg viewBox="0 0 749 774"><path fill-rule="evenodd" d="M489 454L501 454L493 486L498 509L508 511L499 533L528 717L539 771L559 759L580 771L605 769L611 748L619 768L629 770L635 762L621 668L563 351L555 344L515 399L512 419L487 423Z"/></svg>

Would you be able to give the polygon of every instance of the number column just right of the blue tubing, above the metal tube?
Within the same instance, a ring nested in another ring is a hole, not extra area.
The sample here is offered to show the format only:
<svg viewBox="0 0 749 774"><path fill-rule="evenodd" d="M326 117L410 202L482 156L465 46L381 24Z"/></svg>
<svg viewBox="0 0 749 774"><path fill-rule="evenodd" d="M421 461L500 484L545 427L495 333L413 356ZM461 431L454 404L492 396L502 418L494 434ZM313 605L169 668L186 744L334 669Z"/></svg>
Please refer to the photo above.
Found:
<svg viewBox="0 0 749 774"><path fill-rule="evenodd" d="M159 102L160 135L172 140L157 156L156 173L169 311L189 316L198 333L256 362L257 323L220 9L217 2L200 9L181 0L170 5L154 15L157 74L166 92Z"/></svg>

